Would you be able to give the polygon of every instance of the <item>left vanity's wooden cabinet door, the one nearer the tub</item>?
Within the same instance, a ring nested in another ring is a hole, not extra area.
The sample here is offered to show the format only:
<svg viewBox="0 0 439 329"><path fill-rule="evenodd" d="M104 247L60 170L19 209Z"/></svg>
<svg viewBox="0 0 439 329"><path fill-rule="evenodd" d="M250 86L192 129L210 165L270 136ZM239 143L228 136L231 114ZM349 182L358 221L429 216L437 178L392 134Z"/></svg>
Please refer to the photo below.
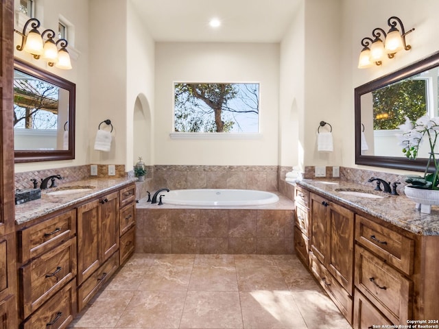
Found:
<svg viewBox="0 0 439 329"><path fill-rule="evenodd" d="M119 193L106 195L101 201L102 225L100 231L103 264L119 249Z"/></svg>

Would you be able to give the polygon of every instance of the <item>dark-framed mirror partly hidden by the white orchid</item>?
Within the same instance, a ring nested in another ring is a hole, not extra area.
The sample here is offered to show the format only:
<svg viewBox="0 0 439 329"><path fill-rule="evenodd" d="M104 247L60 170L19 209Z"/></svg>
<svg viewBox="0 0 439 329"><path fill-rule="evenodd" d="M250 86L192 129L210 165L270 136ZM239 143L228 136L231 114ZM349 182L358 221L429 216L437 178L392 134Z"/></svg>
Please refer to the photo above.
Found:
<svg viewBox="0 0 439 329"><path fill-rule="evenodd" d="M408 159L396 134L405 117L439 116L439 52L355 88L355 163L424 171L428 145ZM428 144L427 142L425 144Z"/></svg>

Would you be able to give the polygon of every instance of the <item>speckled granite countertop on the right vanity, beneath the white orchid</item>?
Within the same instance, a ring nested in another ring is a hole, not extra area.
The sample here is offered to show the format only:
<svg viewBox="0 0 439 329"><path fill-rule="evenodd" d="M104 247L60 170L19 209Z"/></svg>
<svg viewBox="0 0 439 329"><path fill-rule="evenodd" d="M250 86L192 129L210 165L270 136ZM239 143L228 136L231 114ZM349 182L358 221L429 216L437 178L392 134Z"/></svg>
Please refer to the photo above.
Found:
<svg viewBox="0 0 439 329"><path fill-rule="evenodd" d="M431 206L430 215L423 214L415 209L415 203L403 194L388 195L380 191L373 191L375 185L366 186L343 180L301 180L297 184L415 234L439 235L439 206ZM337 191L340 188L370 191L370 193L380 195L383 198L372 199L346 195Z"/></svg>

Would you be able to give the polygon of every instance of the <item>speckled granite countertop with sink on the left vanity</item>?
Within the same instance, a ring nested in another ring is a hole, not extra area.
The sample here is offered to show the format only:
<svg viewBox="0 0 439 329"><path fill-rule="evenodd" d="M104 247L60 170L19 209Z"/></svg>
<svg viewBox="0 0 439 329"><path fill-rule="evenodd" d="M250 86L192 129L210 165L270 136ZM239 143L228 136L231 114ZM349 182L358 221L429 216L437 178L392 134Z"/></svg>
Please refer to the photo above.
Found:
<svg viewBox="0 0 439 329"><path fill-rule="evenodd" d="M31 221L38 217L47 215L56 210L61 210L80 202L86 201L100 193L105 193L115 188L121 188L132 182L136 182L137 178L95 178L89 180L79 180L77 182L69 182L60 184L55 188L48 188L41 191L41 199L18 204L15 206L15 223L17 225ZM67 193L61 195L47 195L47 193L65 190L67 187L91 188L89 191Z"/></svg>

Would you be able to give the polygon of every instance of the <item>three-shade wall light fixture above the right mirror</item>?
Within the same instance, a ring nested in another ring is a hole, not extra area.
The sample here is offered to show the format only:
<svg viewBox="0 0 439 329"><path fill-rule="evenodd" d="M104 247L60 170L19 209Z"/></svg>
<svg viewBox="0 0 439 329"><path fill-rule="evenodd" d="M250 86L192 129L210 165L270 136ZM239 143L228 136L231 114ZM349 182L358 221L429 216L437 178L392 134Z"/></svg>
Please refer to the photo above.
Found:
<svg viewBox="0 0 439 329"><path fill-rule="evenodd" d="M410 29L410 31L405 32L403 22L396 16L390 17L387 21L390 26L387 34L385 31L379 27L373 29L372 38L363 38L361 40L361 45L363 49L359 54L358 60L358 68L365 69L366 67L375 65L381 65L383 63L383 59L385 56L388 58L394 58L395 53L401 51L403 49L410 50L412 46L407 45L405 43L405 36L410 32L414 31ZM401 32L396 28L396 25L399 23ZM381 39L384 38L384 41Z"/></svg>

